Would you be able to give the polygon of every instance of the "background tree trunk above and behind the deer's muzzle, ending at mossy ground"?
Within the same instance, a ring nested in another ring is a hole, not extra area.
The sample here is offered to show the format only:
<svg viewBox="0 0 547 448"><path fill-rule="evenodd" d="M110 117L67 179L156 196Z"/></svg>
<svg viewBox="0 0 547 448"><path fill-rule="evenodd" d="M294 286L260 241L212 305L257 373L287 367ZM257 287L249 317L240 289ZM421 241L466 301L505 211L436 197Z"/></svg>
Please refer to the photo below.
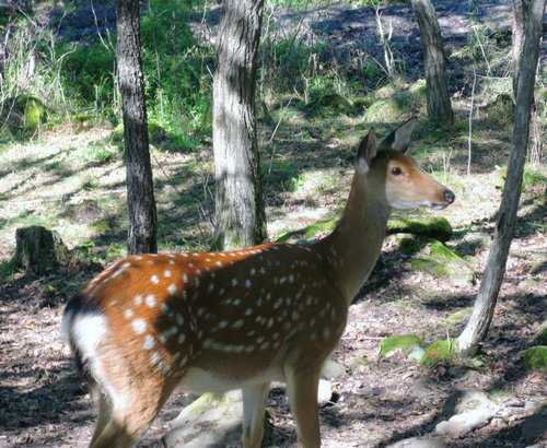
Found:
<svg viewBox="0 0 547 448"><path fill-rule="evenodd" d="M420 28L426 68L428 118L440 123L452 123L454 113L449 95L449 82L441 28L430 0L411 0Z"/></svg>

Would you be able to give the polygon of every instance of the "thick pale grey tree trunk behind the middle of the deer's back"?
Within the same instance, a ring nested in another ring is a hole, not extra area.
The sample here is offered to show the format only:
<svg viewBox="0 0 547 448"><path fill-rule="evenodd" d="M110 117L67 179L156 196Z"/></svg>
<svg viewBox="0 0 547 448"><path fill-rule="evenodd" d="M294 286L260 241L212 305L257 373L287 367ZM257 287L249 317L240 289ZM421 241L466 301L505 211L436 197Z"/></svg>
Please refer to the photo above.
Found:
<svg viewBox="0 0 547 448"><path fill-rule="evenodd" d="M266 213L256 137L255 87L264 0L224 0L213 81L214 247L261 243Z"/></svg>

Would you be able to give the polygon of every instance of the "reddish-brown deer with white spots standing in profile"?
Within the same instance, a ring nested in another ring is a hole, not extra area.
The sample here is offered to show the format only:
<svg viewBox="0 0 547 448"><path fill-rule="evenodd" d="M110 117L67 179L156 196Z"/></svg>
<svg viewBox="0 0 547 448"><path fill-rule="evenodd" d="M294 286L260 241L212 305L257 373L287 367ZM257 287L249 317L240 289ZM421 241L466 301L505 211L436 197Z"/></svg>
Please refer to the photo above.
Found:
<svg viewBox="0 0 547 448"><path fill-rule="evenodd" d="M379 145L370 129L347 204L326 237L132 255L77 293L62 332L98 401L90 446L135 446L174 390L242 389L242 445L259 447L269 386L281 381L299 443L319 447L322 366L380 257L391 211L441 210L455 200L406 154L416 122Z"/></svg>

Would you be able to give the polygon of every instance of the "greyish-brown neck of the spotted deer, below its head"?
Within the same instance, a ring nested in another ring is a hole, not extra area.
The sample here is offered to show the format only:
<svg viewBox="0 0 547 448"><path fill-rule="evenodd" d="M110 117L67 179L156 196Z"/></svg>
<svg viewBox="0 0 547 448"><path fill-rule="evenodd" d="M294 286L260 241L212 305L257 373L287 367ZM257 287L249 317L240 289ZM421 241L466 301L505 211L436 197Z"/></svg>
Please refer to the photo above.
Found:
<svg viewBox="0 0 547 448"><path fill-rule="evenodd" d="M377 187L363 184L356 175L338 225L318 243L348 306L380 257L391 213Z"/></svg>

